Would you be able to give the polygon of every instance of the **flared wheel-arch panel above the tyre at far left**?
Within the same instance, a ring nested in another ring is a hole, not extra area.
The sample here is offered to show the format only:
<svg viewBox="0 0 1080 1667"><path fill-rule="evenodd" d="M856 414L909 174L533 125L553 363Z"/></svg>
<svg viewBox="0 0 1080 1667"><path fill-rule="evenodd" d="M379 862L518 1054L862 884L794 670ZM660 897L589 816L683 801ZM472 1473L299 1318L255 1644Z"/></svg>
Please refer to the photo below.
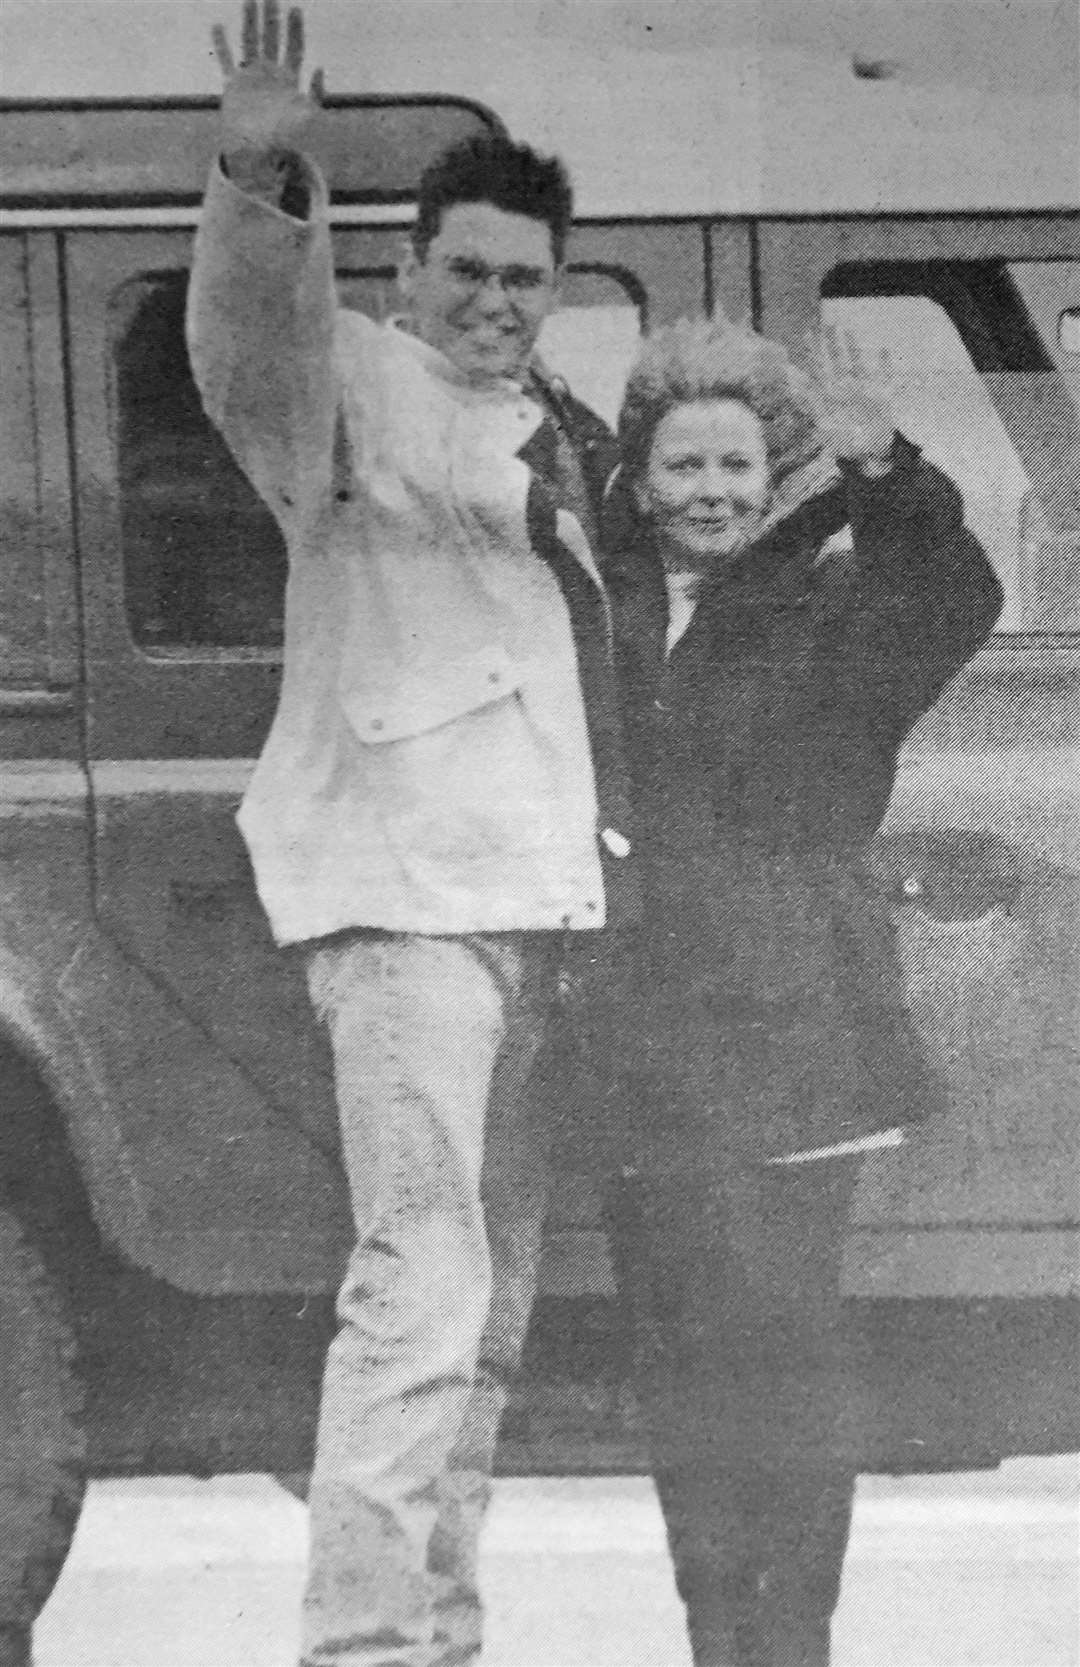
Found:
<svg viewBox="0 0 1080 1667"><path fill-rule="evenodd" d="M132 1264L200 1294L332 1290L348 1205L328 1082L320 1144L117 950L92 914L87 808L78 763L5 763L0 1047L45 1080Z"/></svg>

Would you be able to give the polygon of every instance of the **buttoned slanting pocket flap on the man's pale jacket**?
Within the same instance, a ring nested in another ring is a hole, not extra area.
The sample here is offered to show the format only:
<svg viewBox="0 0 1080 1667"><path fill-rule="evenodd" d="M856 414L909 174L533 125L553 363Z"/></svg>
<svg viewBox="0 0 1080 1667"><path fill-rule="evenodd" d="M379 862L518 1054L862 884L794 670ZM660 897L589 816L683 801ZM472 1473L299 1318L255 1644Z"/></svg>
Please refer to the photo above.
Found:
<svg viewBox="0 0 1080 1667"><path fill-rule="evenodd" d="M400 672L383 688L347 688L340 700L360 740L377 747L423 735L505 700L520 683L520 667L503 647L492 645L423 670Z"/></svg>

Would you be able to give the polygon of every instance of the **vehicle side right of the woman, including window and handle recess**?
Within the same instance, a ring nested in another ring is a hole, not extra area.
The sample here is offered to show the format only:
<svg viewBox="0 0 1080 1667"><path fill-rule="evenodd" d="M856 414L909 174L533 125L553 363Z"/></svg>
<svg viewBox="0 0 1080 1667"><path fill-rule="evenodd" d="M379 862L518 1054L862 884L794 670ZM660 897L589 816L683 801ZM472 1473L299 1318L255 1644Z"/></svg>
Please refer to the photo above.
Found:
<svg viewBox="0 0 1080 1667"><path fill-rule="evenodd" d="M962 488L1007 593L905 748L878 842L915 1020L950 1110L877 1155L850 1289L1055 1297L1080 1284L1080 217L782 220L762 328L820 322L890 373L897 427Z"/></svg>

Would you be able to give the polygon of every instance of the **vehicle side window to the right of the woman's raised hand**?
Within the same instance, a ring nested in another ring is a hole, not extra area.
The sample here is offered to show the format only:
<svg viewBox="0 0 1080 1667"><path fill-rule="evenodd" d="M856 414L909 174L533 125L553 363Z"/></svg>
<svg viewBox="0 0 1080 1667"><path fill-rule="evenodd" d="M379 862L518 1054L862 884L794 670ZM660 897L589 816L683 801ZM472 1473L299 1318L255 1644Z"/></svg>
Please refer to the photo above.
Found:
<svg viewBox="0 0 1080 1667"><path fill-rule="evenodd" d="M845 265L825 323L892 372L897 427L963 492L1005 587L1000 632L1080 632L1080 373L1058 320L1080 265Z"/></svg>

